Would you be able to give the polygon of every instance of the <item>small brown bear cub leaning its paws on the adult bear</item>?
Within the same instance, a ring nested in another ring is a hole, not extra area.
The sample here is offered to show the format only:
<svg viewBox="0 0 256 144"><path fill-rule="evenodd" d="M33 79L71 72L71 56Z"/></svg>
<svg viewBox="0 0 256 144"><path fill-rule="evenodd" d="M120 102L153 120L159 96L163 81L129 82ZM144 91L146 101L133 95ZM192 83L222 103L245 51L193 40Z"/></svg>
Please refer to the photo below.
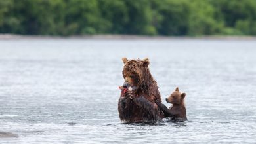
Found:
<svg viewBox="0 0 256 144"><path fill-rule="evenodd" d="M171 120L184 121L186 118L186 107L184 103L184 98L186 94L183 92L179 92L179 88L177 87L175 92L173 92L168 98L165 100L167 103L171 103L171 107L169 109L163 105L159 100L156 101L156 104L163 111L166 117L171 117Z"/></svg>

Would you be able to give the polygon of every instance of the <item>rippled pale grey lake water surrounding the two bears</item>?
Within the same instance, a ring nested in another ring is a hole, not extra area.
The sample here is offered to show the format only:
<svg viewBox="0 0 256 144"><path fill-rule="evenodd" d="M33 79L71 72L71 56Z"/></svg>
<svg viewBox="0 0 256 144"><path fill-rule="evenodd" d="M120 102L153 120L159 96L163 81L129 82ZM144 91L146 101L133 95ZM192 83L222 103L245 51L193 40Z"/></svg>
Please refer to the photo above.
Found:
<svg viewBox="0 0 256 144"><path fill-rule="evenodd" d="M122 124L123 57L149 58L162 99L186 92L188 121ZM256 41L2 39L0 126L0 143L256 143Z"/></svg>

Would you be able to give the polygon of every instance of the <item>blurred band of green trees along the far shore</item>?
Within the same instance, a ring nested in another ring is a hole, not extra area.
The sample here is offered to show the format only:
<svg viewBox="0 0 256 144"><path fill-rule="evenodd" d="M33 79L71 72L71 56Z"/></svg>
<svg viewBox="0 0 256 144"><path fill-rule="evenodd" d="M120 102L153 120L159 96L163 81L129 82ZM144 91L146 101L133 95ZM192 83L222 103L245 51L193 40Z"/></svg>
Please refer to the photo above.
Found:
<svg viewBox="0 0 256 144"><path fill-rule="evenodd" d="M0 33L256 35L256 0L0 0Z"/></svg>

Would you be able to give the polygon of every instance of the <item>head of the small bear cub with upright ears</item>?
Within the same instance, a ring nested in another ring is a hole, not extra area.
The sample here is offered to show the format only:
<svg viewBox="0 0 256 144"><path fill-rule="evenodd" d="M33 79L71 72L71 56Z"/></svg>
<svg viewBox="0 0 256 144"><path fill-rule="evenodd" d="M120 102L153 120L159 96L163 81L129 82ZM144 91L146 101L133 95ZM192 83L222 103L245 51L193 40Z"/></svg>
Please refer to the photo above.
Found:
<svg viewBox="0 0 256 144"><path fill-rule="evenodd" d="M177 87L175 89L175 92L171 93L171 96L166 98L166 102L172 103L172 104L181 104L185 96L186 96L186 93L179 92L179 88Z"/></svg>

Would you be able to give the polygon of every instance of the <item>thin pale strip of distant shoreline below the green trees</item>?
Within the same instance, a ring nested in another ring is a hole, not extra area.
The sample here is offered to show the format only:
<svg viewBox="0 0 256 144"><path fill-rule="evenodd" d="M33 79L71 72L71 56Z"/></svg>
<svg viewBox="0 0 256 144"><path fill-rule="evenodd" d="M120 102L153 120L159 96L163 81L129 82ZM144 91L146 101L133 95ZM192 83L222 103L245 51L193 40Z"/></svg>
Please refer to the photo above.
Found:
<svg viewBox="0 0 256 144"><path fill-rule="evenodd" d="M147 35L71 35L71 36L52 36L52 35L14 35L14 34L0 34L0 40L8 39L106 39L106 40L129 40L129 39L209 39L209 40L256 40L253 36L147 36Z"/></svg>

